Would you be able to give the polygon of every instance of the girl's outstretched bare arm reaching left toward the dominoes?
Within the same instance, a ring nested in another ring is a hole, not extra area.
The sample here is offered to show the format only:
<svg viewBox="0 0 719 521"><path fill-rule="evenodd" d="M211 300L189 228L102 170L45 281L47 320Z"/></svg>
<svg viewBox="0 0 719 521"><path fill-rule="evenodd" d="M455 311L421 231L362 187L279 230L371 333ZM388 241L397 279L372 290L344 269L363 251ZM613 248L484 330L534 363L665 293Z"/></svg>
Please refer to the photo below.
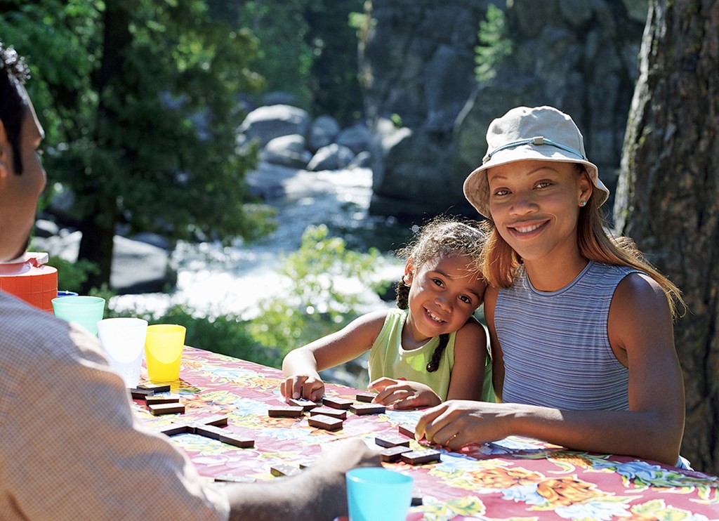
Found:
<svg viewBox="0 0 719 521"><path fill-rule="evenodd" d="M290 351L282 362L285 380L280 392L285 397L316 402L324 395L319 372L357 358L372 347L380 334L387 311L367 313L340 331Z"/></svg>

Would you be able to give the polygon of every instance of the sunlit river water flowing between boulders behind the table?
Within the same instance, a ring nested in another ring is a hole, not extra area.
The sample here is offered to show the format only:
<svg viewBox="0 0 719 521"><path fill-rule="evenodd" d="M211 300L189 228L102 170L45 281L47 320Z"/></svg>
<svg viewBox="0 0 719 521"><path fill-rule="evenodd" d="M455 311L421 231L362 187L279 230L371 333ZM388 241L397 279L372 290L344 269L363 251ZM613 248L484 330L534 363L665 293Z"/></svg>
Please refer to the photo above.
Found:
<svg viewBox="0 0 719 521"><path fill-rule="evenodd" d="M377 270L378 280L398 280L403 264L392 251L408 237L408 226L390 218L368 215L372 195L372 171L361 168L338 172L307 172L260 164L247 182L275 208L278 228L252 244L242 240L232 246L219 242L180 243L173 252L178 267L177 288L171 294L119 295L111 305L162 312L183 305L198 316L234 313L242 318L257 315L257 301L282 292L287 281L278 275L282 254L295 251L307 226L325 223L331 236L341 236L359 251L376 246L386 252ZM343 290L362 292L362 282L336 281ZM367 307L387 305L377 295L364 292Z"/></svg>

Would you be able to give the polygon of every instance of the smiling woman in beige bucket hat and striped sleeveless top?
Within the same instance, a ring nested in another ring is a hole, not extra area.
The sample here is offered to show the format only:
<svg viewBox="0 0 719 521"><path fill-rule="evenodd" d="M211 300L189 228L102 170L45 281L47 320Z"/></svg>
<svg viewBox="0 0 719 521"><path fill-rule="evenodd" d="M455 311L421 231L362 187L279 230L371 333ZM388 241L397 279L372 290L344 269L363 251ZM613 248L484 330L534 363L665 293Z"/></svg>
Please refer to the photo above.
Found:
<svg viewBox="0 0 719 521"><path fill-rule="evenodd" d="M464 194L490 218L485 316L503 403L433 407L417 434L450 448L526 435L677 464L679 290L631 241L605 234L609 192L569 116L512 109L487 144Z"/></svg>

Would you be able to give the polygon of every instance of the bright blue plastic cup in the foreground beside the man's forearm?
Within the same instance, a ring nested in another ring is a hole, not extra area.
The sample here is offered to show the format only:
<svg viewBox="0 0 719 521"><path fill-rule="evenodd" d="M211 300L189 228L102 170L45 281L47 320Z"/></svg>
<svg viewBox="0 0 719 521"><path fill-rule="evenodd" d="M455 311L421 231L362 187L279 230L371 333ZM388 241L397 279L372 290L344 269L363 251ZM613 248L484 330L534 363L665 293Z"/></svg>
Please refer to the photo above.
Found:
<svg viewBox="0 0 719 521"><path fill-rule="evenodd" d="M345 474L349 521L404 521L413 479L384 467L358 467Z"/></svg>

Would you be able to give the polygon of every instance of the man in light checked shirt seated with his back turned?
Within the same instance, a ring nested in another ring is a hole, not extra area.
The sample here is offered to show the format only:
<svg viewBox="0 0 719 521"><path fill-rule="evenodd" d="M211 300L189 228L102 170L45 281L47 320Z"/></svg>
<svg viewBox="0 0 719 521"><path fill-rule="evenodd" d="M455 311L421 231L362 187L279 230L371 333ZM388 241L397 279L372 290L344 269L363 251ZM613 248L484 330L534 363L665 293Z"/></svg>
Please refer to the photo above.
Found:
<svg viewBox="0 0 719 521"><path fill-rule="evenodd" d="M27 248L46 182L28 77L0 42L0 262ZM334 519L347 512L344 472L379 464L365 443L347 440L294 478L216 488L135 422L96 338L0 293L3 520Z"/></svg>

